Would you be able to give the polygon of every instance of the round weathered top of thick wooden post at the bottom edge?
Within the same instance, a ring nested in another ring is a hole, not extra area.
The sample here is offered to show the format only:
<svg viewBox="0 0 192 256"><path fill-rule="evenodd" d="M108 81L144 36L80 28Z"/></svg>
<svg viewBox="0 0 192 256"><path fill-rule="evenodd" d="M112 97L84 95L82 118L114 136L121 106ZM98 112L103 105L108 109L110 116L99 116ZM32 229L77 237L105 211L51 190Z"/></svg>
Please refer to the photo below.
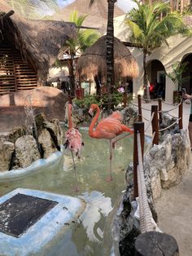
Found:
<svg viewBox="0 0 192 256"><path fill-rule="evenodd" d="M160 232L145 232L137 236L135 256L179 256L179 247L173 236Z"/></svg>

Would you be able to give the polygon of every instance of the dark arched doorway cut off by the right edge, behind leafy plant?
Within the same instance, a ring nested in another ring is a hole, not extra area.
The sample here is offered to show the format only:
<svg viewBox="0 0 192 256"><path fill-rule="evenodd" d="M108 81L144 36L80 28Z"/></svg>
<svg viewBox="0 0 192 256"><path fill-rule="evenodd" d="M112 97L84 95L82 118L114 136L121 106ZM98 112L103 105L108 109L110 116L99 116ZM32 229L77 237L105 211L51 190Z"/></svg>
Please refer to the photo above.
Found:
<svg viewBox="0 0 192 256"><path fill-rule="evenodd" d="M185 55L181 63L187 63L185 72L182 73L182 77L185 78L182 86L188 94L192 94L192 53Z"/></svg>

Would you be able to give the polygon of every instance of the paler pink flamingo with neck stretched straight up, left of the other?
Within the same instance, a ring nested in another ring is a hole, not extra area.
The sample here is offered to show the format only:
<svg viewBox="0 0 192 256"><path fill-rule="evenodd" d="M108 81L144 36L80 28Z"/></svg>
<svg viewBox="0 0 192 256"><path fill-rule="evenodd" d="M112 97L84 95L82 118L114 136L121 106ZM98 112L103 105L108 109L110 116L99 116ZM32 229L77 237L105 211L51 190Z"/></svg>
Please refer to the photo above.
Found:
<svg viewBox="0 0 192 256"><path fill-rule="evenodd" d="M69 148L72 152L72 161L73 161L73 168L75 171L76 177L76 165L74 161L73 152L75 152L76 157L81 157L81 148L84 143L82 142L82 135L76 128L72 127L72 104L68 104L68 130L65 132L65 148ZM76 179L77 180L77 179ZM76 191L78 188L76 186Z"/></svg>

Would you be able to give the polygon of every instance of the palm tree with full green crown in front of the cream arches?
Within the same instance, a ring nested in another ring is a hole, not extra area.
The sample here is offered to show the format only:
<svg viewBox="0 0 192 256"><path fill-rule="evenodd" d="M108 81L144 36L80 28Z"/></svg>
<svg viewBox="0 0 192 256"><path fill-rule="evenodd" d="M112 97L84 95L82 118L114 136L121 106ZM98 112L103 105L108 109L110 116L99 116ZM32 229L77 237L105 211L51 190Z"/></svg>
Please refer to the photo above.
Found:
<svg viewBox="0 0 192 256"><path fill-rule="evenodd" d="M190 33L184 24L181 13L171 13L170 5L164 2L140 3L133 0L137 8L129 11L125 18L125 24L131 31L130 42L142 47L143 52L143 86L146 87L146 98L150 99L149 82L146 73L146 55L150 55L155 48L165 43L167 38L183 33Z"/></svg>

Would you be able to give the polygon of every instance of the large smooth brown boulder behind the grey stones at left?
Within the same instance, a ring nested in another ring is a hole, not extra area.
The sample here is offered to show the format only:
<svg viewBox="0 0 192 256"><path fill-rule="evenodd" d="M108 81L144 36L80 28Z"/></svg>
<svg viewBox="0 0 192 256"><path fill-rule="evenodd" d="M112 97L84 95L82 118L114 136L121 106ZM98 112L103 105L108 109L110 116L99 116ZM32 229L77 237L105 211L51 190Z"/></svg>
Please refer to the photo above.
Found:
<svg viewBox="0 0 192 256"><path fill-rule="evenodd" d="M48 86L0 95L0 130L26 125L26 119L30 118L26 110L30 108L34 115L45 113L49 121L54 118L64 121L67 101L68 95L62 90Z"/></svg>

